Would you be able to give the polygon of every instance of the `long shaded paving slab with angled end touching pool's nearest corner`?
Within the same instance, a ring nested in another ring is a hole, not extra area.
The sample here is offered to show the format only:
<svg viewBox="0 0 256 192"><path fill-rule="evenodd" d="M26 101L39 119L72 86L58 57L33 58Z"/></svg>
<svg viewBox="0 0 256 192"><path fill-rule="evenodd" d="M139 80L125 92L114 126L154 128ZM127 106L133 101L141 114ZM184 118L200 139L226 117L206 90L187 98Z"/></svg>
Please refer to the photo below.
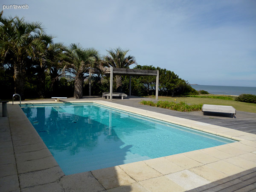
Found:
<svg viewBox="0 0 256 192"><path fill-rule="evenodd" d="M41 171L19 174L20 188L27 188L47 183L53 183L64 176L59 166Z"/></svg>

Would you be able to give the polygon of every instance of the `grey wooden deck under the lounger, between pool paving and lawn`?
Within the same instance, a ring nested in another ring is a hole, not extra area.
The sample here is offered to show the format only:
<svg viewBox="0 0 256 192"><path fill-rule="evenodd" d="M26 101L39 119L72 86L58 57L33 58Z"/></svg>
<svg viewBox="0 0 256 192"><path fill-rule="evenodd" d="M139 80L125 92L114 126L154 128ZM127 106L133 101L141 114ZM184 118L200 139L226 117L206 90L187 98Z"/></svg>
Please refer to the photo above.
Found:
<svg viewBox="0 0 256 192"><path fill-rule="evenodd" d="M148 99L147 99L148 100ZM113 100L112 102L120 105L127 105L134 108L145 109L148 111L154 111L157 113L163 113L166 115L177 116L184 119L191 119L199 122L209 123L212 125L218 125L222 127L232 128L239 131L244 131L251 134L256 134L256 113L248 113L243 111L236 111L235 118L227 113L208 113L205 115L201 111L195 112L179 112L169 109L151 107L148 105L141 105L139 102L141 99L124 99ZM155 101L152 99L152 101Z"/></svg>

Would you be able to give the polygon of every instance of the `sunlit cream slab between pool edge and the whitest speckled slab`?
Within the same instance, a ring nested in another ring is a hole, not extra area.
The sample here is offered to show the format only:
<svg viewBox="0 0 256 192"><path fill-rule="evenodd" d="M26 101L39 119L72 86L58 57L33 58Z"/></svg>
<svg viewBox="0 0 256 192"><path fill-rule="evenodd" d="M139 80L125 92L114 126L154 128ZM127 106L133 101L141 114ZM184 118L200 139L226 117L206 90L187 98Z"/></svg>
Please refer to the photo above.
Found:
<svg viewBox="0 0 256 192"><path fill-rule="evenodd" d="M153 169L157 170L163 175L167 175L170 173L175 173L184 170L183 167L172 163L171 161L167 160L165 157L150 159L144 161L148 166L152 167Z"/></svg>

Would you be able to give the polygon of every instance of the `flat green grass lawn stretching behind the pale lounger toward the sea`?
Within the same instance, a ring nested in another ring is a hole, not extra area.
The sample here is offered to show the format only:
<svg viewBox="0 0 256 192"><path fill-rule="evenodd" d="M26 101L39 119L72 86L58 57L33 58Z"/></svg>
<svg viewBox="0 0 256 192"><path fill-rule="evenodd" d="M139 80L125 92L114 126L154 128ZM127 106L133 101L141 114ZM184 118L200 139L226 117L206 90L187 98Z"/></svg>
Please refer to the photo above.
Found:
<svg viewBox="0 0 256 192"><path fill-rule="evenodd" d="M211 99L211 98L196 98L196 97L167 97L167 96L158 96L159 100L165 101L175 101L176 102L186 102L188 104L209 104L209 105L231 105L237 111L245 111L250 113L256 113L256 104L255 103L245 103L237 102L232 100L224 99Z"/></svg>

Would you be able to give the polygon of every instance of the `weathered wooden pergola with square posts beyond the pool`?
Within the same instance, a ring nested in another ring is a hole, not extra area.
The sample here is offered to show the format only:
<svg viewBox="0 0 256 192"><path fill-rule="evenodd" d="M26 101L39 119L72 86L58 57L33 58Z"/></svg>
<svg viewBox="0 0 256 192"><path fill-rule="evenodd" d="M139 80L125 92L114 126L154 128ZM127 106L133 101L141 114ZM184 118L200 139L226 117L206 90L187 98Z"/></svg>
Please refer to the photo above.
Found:
<svg viewBox="0 0 256 192"><path fill-rule="evenodd" d="M91 74L97 73L99 74L99 70L90 70L89 71L89 96L91 96ZM131 96L131 76L157 76L156 78L156 99L158 99L158 84L159 84L159 71L158 70L139 70L139 69L126 69L126 68L115 68L108 67L105 68L103 73L105 75L110 75L110 97L112 100L113 94L113 75L120 76L130 76L129 83L129 96Z"/></svg>

